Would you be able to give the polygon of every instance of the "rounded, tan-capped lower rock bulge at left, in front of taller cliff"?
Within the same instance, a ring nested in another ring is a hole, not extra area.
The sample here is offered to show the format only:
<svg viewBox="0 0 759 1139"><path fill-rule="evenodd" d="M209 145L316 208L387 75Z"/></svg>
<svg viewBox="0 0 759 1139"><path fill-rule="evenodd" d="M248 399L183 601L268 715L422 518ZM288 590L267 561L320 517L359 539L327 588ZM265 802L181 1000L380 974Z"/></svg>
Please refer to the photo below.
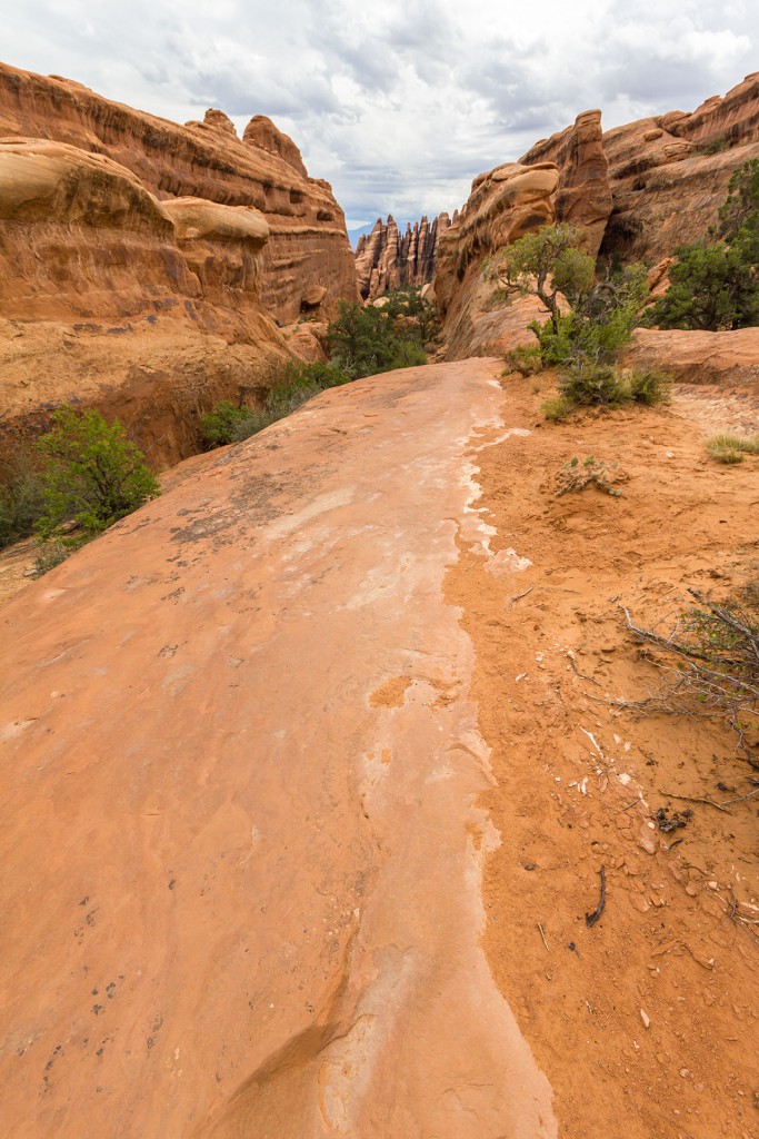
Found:
<svg viewBox="0 0 759 1139"><path fill-rule="evenodd" d="M100 154L0 141L0 441L60 403L119 416L154 467L197 450L203 410L288 354L261 300L265 218L159 202Z"/></svg>

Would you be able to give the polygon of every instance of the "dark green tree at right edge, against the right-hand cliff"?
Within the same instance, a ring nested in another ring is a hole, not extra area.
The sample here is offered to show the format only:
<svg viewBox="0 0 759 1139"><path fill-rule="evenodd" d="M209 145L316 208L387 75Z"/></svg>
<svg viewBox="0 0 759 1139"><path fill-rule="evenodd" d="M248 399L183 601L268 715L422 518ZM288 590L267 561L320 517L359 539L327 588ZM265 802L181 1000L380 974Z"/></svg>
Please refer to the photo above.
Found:
<svg viewBox="0 0 759 1139"><path fill-rule="evenodd" d="M717 243L696 241L675 249L678 262L670 286L646 313L659 328L719 331L759 323L759 159L733 174Z"/></svg>

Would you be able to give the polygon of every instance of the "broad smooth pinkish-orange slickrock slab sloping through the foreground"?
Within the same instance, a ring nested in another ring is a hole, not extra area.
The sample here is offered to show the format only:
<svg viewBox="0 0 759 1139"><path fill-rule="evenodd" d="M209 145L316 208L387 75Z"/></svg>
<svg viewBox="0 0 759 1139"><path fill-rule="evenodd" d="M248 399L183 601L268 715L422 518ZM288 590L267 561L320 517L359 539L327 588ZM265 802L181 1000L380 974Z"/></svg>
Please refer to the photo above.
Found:
<svg viewBox="0 0 759 1139"><path fill-rule="evenodd" d="M443 592L493 376L327 393L3 607L3 1134L556 1134Z"/></svg>

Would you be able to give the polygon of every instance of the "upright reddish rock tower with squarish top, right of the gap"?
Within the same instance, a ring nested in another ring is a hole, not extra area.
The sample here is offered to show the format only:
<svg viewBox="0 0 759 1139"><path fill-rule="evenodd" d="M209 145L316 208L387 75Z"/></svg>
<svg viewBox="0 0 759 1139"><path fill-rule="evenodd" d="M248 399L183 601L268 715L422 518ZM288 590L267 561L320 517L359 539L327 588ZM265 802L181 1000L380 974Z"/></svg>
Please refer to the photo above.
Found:
<svg viewBox="0 0 759 1139"><path fill-rule="evenodd" d="M559 167L556 221L583 229L587 252L597 256L612 205L601 112L578 115L574 126L537 142L520 162L526 166L552 162Z"/></svg>

